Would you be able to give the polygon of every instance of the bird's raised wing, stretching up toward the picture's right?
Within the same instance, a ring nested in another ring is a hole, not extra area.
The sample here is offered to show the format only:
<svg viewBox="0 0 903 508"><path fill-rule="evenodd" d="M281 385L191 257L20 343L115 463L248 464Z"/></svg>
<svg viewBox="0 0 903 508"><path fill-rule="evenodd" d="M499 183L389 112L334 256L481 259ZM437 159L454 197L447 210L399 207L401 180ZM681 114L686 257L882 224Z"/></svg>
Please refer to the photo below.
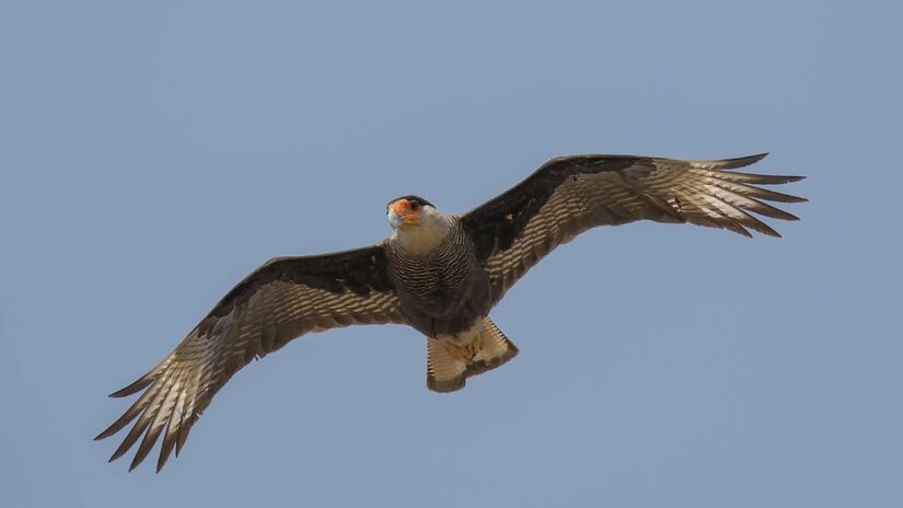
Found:
<svg viewBox="0 0 903 508"><path fill-rule="evenodd" d="M767 201L806 199L755 185L785 184L802 176L734 171L766 154L718 161L681 161L633 155L553 159L526 180L462 217L489 272L493 301L562 243L598 226L648 219L725 228L751 236L775 230L749 212L797 220Z"/></svg>

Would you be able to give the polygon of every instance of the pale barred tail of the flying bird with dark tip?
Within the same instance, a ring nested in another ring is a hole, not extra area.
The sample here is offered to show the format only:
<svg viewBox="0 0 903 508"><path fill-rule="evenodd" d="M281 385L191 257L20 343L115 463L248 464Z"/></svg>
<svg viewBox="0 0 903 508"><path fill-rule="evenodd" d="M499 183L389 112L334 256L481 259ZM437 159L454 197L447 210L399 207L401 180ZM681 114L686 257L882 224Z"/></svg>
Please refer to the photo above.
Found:
<svg viewBox="0 0 903 508"><path fill-rule="evenodd" d="M500 367L517 354L518 347L489 318L483 318L476 333L463 343L427 337L427 388L433 392L461 390L471 376Z"/></svg>

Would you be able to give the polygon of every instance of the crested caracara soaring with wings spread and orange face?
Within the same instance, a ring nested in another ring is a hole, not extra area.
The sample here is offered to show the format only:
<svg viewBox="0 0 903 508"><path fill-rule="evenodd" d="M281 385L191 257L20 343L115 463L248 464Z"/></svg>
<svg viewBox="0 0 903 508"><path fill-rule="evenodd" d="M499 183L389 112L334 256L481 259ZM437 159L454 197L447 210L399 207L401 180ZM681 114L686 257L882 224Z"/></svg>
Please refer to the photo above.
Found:
<svg viewBox="0 0 903 508"><path fill-rule="evenodd" d="M518 354L489 311L533 265L583 231L646 219L780 236L751 212L797 220L764 201L806 199L760 185L802 176L732 171L764 157L562 157L463 215L444 215L417 196L394 199L386 207L394 232L382 242L276 257L239 282L157 367L111 395L143 392L95 439L137 418L109 460L141 439L131 471L163 436L159 472L217 391L252 359L306 333L352 324L406 324L422 333L427 386L460 390Z"/></svg>

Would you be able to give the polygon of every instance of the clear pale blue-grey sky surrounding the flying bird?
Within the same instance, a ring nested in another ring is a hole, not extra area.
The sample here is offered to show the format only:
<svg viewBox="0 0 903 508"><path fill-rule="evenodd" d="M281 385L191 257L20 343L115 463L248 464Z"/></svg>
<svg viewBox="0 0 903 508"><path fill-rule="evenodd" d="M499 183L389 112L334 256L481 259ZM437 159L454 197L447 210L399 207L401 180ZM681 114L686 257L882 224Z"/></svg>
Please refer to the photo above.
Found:
<svg viewBox="0 0 903 508"><path fill-rule="evenodd" d="M903 506L900 2L0 1L0 506ZM401 326L241 371L159 475L105 395L270 256L547 159L803 174L783 240L635 223L442 395Z"/></svg>

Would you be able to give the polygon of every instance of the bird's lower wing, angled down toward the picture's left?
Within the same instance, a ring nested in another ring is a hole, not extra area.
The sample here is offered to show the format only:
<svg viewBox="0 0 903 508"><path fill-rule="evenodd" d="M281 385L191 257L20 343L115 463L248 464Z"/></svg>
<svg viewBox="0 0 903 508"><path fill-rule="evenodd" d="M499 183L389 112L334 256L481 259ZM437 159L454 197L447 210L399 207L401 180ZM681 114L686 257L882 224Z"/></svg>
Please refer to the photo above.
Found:
<svg viewBox="0 0 903 508"><path fill-rule="evenodd" d="M173 448L178 455L213 394L251 359L310 332L405 323L386 263L381 245L270 259L235 286L160 365L111 395L144 391L95 439L138 418L109 460L125 454L143 435L130 471L163 434L160 471Z"/></svg>

